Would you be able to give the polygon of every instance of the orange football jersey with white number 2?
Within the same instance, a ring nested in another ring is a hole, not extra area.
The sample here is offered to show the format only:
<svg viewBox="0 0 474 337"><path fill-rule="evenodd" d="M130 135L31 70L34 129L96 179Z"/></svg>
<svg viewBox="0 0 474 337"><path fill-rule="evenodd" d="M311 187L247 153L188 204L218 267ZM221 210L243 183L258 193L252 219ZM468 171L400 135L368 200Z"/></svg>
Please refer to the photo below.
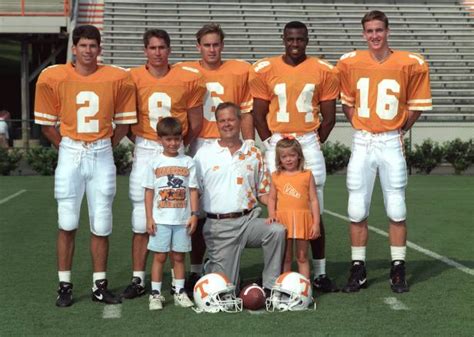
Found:
<svg viewBox="0 0 474 337"><path fill-rule="evenodd" d="M46 68L36 83L35 123L56 125L63 137L93 142L113 135L112 122L137 122L135 86L125 69L99 65L82 76L72 63Z"/></svg>

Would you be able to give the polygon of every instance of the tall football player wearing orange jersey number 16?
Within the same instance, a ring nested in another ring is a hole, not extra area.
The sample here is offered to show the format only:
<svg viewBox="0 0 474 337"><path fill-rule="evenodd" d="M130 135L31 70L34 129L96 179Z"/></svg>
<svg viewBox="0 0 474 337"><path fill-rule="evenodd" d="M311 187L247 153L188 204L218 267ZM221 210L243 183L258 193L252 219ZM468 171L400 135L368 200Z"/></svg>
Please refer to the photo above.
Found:
<svg viewBox="0 0 474 337"><path fill-rule="evenodd" d="M343 55L337 64L343 111L356 130L347 168L352 266L344 292L367 286L367 218L377 171L389 218L391 288L409 290L405 278L407 169L403 133L421 111L431 110L428 65L419 54L390 49L388 19L380 11L362 19L368 50Z"/></svg>

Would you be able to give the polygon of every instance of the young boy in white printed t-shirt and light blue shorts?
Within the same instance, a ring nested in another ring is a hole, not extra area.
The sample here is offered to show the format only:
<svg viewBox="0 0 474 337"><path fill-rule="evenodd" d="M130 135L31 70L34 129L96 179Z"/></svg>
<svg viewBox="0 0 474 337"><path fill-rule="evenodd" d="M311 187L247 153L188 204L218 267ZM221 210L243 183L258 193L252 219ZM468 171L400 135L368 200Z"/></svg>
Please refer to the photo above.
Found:
<svg viewBox="0 0 474 337"><path fill-rule="evenodd" d="M178 152L182 143L181 123L176 118L166 117L158 122L156 130L163 153L150 160L142 183L150 234L148 249L154 252L149 308L163 308L163 265L170 251L176 286L174 303L187 308L193 306L193 302L184 291L184 259L185 253L191 250L191 234L198 222L196 170L194 161Z"/></svg>

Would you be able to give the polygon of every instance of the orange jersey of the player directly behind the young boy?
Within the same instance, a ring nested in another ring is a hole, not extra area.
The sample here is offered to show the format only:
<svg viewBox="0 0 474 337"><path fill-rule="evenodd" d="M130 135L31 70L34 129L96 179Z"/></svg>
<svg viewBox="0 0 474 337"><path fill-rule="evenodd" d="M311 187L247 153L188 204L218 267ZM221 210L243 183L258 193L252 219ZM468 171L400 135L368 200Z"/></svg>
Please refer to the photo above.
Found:
<svg viewBox="0 0 474 337"><path fill-rule="evenodd" d="M188 113L202 105L206 88L196 68L174 65L162 78L148 72L145 65L131 70L137 87L138 123L132 132L140 137L158 140L156 124L161 118L175 117L188 132Z"/></svg>

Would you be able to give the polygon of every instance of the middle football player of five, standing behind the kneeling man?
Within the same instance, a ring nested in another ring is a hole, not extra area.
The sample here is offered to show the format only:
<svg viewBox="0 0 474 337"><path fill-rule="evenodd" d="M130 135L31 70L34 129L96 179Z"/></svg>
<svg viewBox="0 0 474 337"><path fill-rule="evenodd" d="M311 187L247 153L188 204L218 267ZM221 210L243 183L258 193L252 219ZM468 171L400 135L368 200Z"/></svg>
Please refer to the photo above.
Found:
<svg viewBox="0 0 474 337"><path fill-rule="evenodd" d="M202 146L214 143L214 140L219 138L214 112L222 102L233 102L240 107L242 138L252 144L254 142L252 96L248 86L250 64L242 60L222 60L224 37L224 31L218 24L205 24L196 33L196 47L201 59L183 63L203 74L207 88L203 106L203 128L196 141L191 144L192 155ZM196 281L202 276L202 260L206 251L202 227L205 221L205 215L201 214L198 228L192 237L191 273L186 281L189 294L193 293Z"/></svg>

